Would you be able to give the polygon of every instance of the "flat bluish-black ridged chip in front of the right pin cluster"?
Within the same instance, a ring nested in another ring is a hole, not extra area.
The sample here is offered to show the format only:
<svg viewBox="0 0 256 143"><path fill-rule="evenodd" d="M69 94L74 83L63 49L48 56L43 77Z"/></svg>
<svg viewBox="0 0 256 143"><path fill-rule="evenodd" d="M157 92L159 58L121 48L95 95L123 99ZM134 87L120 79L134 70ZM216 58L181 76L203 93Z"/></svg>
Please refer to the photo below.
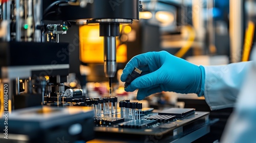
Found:
<svg viewBox="0 0 256 143"><path fill-rule="evenodd" d="M121 128L132 128L132 129L141 129L151 125L157 124L157 121L154 120L132 120L127 121L121 124L118 124Z"/></svg>

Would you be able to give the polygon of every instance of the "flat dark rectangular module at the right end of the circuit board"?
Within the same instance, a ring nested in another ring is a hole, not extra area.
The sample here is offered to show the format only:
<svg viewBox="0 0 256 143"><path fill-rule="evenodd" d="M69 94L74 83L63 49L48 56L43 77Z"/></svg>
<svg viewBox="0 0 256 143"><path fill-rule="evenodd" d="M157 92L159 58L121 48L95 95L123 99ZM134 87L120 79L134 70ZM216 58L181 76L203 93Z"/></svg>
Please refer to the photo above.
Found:
<svg viewBox="0 0 256 143"><path fill-rule="evenodd" d="M163 110L161 112L159 112L159 115L175 115L178 118L183 118L185 116L188 116L190 114L195 113L194 108L170 108L167 110Z"/></svg>

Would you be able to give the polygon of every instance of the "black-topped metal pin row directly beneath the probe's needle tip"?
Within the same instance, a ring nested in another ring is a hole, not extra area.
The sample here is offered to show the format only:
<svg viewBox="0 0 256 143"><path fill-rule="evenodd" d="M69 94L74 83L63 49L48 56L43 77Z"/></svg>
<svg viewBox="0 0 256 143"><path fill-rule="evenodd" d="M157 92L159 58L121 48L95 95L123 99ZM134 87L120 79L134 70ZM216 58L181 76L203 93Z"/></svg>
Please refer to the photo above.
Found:
<svg viewBox="0 0 256 143"><path fill-rule="evenodd" d="M103 116L110 114L117 114L117 97L105 97L105 98L87 98L86 106L92 107L95 116Z"/></svg>

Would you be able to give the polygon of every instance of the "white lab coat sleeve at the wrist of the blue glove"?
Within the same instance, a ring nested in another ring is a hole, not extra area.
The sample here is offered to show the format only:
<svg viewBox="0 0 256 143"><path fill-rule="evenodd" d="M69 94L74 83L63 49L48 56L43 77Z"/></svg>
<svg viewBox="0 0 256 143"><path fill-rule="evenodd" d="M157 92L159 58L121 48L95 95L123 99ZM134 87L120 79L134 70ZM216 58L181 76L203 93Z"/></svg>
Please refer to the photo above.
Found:
<svg viewBox="0 0 256 143"><path fill-rule="evenodd" d="M231 63L228 65L204 66L204 97L211 110L234 107L249 62Z"/></svg>

